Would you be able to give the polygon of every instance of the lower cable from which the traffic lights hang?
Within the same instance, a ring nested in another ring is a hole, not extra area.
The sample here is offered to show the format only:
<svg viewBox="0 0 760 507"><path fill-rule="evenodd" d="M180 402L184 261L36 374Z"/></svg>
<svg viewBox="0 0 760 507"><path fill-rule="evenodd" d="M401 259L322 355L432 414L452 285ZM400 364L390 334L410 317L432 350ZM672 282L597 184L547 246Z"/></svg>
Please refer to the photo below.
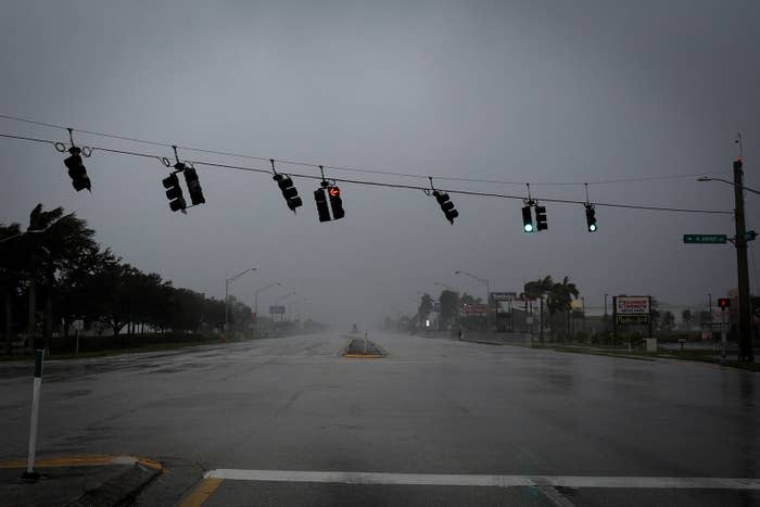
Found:
<svg viewBox="0 0 760 507"><path fill-rule="evenodd" d="M55 142L55 141L52 141L49 139L39 139L39 138L16 136L16 135L10 135L10 134L0 134L0 137L30 141L30 142L49 143L49 144L53 144L54 147L56 147L56 150L62 151L59 149L59 147L62 145L63 143ZM103 151L103 152L107 152L107 153L115 153L115 154L122 154L122 155L128 155L128 156L156 159L164 166L168 166L168 164L169 164L168 159L166 159L165 156L156 155L154 153L144 153L144 152L138 152L138 151L130 151L130 150L117 150L117 149L113 149L113 148L98 147L98 145L92 145L89 148L91 149L91 153L94 153L97 151ZM177 148L179 148L179 147L177 147ZM221 163L217 163L217 162L207 162L207 161L188 161L188 162L193 164L193 165L207 166L207 167L214 167L214 168L246 170L246 172L251 172L251 173L268 174L268 175L273 174L270 169L264 169L264 168L258 168L258 167L246 167L246 166L239 166L239 165L232 165L232 164L221 164ZM314 180L321 180L322 179L321 176L317 176L317 175L305 175L305 174L295 174L295 173L288 173L288 175L295 177L295 178L314 179ZM415 186L415 185L404 185L404 183L392 183L392 182L385 182L385 181L368 181L368 180L349 179L349 178L328 178L328 179L332 180L332 181L340 181L340 182L350 183L350 185L364 185L364 186L370 186L370 187L418 190L418 191L422 191L426 193L431 190L428 187L420 187L420 186ZM446 192L446 193L459 194L459 195L510 199L510 200L517 200L517 201L524 201L525 200L524 195L517 195L517 194L478 192L478 191L471 191L471 190L457 190L457 189L436 189L436 190L440 190L440 191ZM578 201L578 200L570 200L570 199L555 199L555 198L543 198L543 199L542 198L534 198L534 199L536 201L549 202L549 203L581 204L581 205L586 204L586 201ZM596 206L619 207L619 208L628 208L628 210L656 211L656 212L700 213L700 214L719 214L719 215L733 214L733 212L730 212L730 211L719 211L719 210L699 210L699 208L684 208L684 207L670 207L670 206L648 206L648 205L639 205L639 204L620 204L620 203L609 203L609 202L592 202L591 204L594 204Z"/></svg>

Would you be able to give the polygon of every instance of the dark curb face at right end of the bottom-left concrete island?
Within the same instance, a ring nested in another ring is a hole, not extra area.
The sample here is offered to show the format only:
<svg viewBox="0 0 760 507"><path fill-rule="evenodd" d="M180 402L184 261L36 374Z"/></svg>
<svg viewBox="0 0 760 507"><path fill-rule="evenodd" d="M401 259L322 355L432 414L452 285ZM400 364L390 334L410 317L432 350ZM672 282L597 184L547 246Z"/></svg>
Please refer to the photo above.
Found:
<svg viewBox="0 0 760 507"><path fill-rule="evenodd" d="M152 459L140 459L128 470L85 493L68 507L116 507L135 502L140 491L163 473L163 466Z"/></svg>

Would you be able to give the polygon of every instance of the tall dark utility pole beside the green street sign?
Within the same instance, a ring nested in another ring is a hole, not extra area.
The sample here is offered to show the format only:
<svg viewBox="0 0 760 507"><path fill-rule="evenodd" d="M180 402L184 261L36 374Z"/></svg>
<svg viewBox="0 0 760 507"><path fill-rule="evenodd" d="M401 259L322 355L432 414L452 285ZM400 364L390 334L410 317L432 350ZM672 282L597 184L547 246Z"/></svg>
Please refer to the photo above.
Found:
<svg viewBox="0 0 760 507"><path fill-rule="evenodd" d="M734 221L736 225L736 275L739 289L739 360L753 362L752 317L749 313L749 267L744 216L744 170L742 156L734 162Z"/></svg>

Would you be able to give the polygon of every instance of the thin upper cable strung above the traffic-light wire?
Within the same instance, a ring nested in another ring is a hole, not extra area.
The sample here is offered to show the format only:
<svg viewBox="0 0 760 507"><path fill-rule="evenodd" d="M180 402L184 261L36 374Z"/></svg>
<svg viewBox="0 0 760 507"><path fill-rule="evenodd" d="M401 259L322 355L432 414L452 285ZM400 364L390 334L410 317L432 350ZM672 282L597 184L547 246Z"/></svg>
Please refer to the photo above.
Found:
<svg viewBox="0 0 760 507"><path fill-rule="evenodd" d="M69 127L66 127L64 125L37 122L34 119L29 119L29 118L24 118L24 117L20 117L20 116L11 116L11 115L7 115L7 114L0 114L0 118L13 121L13 122L22 122L22 123L37 125L37 126L41 126L41 127L48 127L48 128L56 128L56 129L62 129L62 130L69 129ZM84 130L84 129L77 129L77 128L72 128L72 130L79 132L79 134L86 134L89 136L97 136L97 137L102 137L102 138L107 138L107 139L117 139L117 140L122 140L122 141L136 142L136 143L149 144L149 145L154 145L154 147L173 148L176 145L178 149L192 151L192 152L197 152L197 153L232 156L232 157L248 159L248 160L254 160L254 161L259 161L259 162L268 162L269 160L274 160L278 164L296 165L296 166L302 166L302 167L318 168L320 166L320 164L315 164L313 162L294 161L294 160L287 160L287 159L271 159L268 156L267 157L255 156L255 155L250 155L250 154L244 154L244 153L236 153L236 152L229 152L229 151L207 150L207 149L194 148L194 147L189 147L189 145L169 144L169 143L165 143L165 142L150 141L150 140L145 140L145 139L122 136L122 135L116 135L116 134L100 132L100 131L96 131L96 130ZM351 167L351 166L333 166L333 165L325 165L325 164L321 164L321 166L325 167L326 169L347 172L347 173L377 174L377 175L396 176L396 177L413 178L413 179L428 179L428 177L429 177L429 176L414 175L414 174L408 174L408 173L398 173L398 172L389 170L389 169ZM438 175L438 176L433 176L433 177L435 179L444 180L444 181L464 181L464 182L489 183L489 185L525 186L525 185L530 183L530 185L533 185L536 187L539 187L539 186L540 187L570 187L570 186L577 187L577 186L583 186L583 185L613 185L613 183L628 183L628 182L642 182L642 181L666 181L666 180L675 180L675 179L684 179L684 178L696 178L699 176L725 175L725 174L730 174L730 173L731 172L729 172L729 170L724 170L724 172L680 174L680 175L668 175L668 176L659 175L659 176L631 177L631 178L618 178L618 179L604 179L604 180L583 181L583 182L579 182L579 181L560 181L560 182L507 181L507 180L501 180L501 179L465 178L465 177L444 176L444 175Z"/></svg>

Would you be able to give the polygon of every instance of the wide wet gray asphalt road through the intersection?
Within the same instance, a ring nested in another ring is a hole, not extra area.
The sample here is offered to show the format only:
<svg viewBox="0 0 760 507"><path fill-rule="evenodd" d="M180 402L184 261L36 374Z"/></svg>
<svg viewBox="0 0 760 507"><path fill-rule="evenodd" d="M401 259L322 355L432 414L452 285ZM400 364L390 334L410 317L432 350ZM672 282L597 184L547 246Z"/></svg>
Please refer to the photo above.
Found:
<svg viewBox="0 0 760 507"><path fill-rule="evenodd" d="M335 333L49 362L38 454L150 456L195 470L155 484L142 505L177 502L200 479L193 466L760 478L757 373L370 338L390 356L342 358L347 340ZM30 376L30 365L0 364L2 459L26 455ZM225 480L205 505L571 505L562 502L759 505L760 492Z"/></svg>

